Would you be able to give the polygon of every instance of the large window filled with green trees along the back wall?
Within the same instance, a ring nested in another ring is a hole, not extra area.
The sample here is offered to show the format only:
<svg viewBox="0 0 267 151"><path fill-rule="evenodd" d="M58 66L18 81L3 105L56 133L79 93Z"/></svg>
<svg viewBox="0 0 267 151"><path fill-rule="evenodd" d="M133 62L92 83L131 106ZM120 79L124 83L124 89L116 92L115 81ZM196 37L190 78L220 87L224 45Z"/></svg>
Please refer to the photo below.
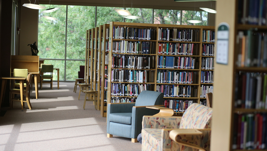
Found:
<svg viewBox="0 0 267 151"><path fill-rule="evenodd" d="M161 10L148 8L126 8L132 15L140 16L138 19L124 19L115 7L72 6L72 5L44 5L47 8L60 7L51 13L40 13L38 29L38 49L40 59L45 63L53 64L59 68L61 81L73 81L78 78L79 66L85 62L85 31L93 27L109 24L111 21L154 23L154 24L184 24L187 20L197 19L207 25L208 13L205 11ZM116 8L123 9L123 8ZM181 13L182 12L182 13ZM154 15L154 18L153 18ZM58 20L48 20L42 16L51 16ZM95 23L96 21L96 23ZM53 73L54 80L57 72Z"/></svg>

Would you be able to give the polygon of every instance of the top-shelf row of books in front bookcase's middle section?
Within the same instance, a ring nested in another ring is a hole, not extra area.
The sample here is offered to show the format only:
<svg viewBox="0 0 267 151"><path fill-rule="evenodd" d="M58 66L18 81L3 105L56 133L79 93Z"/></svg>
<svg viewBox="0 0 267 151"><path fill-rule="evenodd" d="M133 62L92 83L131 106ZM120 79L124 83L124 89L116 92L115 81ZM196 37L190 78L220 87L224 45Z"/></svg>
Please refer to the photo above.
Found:
<svg viewBox="0 0 267 151"><path fill-rule="evenodd" d="M158 40L162 41L195 41L198 42L199 30L197 29L158 29Z"/></svg>

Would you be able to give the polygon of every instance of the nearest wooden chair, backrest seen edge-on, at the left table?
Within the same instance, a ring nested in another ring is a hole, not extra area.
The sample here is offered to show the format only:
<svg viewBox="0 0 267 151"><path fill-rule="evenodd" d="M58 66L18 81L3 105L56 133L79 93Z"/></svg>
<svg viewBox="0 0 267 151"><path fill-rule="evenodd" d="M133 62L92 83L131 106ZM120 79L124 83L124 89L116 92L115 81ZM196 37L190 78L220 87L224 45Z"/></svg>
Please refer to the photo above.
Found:
<svg viewBox="0 0 267 151"><path fill-rule="evenodd" d="M31 84L31 80L32 80L32 74L29 73L27 76L27 82L26 82L26 89L23 90L23 95L25 95L25 100L20 100L20 99L15 99L14 96L15 94L19 94L20 95L20 89L16 89L16 88L12 88L10 89L10 109L13 108L13 101L20 101L21 102L21 110L23 111L23 107L24 107L24 102L27 102L29 109L32 109L32 105L30 102L30 96L29 96L29 87Z"/></svg>

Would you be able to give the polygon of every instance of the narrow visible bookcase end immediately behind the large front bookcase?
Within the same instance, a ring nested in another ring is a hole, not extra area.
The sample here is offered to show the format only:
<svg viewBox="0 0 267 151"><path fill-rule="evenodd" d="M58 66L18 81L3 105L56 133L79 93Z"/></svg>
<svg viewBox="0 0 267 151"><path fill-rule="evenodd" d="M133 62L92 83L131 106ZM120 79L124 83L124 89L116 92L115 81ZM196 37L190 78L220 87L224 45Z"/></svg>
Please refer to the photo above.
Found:
<svg viewBox="0 0 267 151"><path fill-rule="evenodd" d="M106 64L105 62L105 59L106 59L106 41L107 39L106 38L109 38L109 37L106 37L106 30L109 29L110 25L109 24L104 24L103 25L103 37L101 39L101 52L102 52L102 55L101 55L101 60L102 60L102 66L101 66L101 100L100 100L100 114L102 117L106 117L106 110L107 110L107 102L104 100L104 98L106 98L105 94L107 94L107 89L105 89L105 79L107 79L108 77L105 77L105 66L108 66L108 64Z"/></svg>

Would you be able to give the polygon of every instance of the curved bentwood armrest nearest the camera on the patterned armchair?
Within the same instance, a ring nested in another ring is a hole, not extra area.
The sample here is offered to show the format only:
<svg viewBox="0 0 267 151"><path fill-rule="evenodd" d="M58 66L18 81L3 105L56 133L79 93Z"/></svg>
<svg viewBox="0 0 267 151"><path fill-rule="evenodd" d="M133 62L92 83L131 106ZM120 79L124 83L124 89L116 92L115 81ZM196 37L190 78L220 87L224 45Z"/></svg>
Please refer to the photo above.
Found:
<svg viewBox="0 0 267 151"><path fill-rule="evenodd" d="M204 129L204 130L211 130L211 129ZM179 135L200 135L202 134L201 131L197 130L197 129L179 129L179 130L171 130L170 131L170 138L181 145L184 146L188 146L191 148L195 148L195 149L199 149L200 151L205 151L205 149L201 148L198 145L192 144L192 143L188 143L188 142L184 142L181 140L176 139Z"/></svg>

